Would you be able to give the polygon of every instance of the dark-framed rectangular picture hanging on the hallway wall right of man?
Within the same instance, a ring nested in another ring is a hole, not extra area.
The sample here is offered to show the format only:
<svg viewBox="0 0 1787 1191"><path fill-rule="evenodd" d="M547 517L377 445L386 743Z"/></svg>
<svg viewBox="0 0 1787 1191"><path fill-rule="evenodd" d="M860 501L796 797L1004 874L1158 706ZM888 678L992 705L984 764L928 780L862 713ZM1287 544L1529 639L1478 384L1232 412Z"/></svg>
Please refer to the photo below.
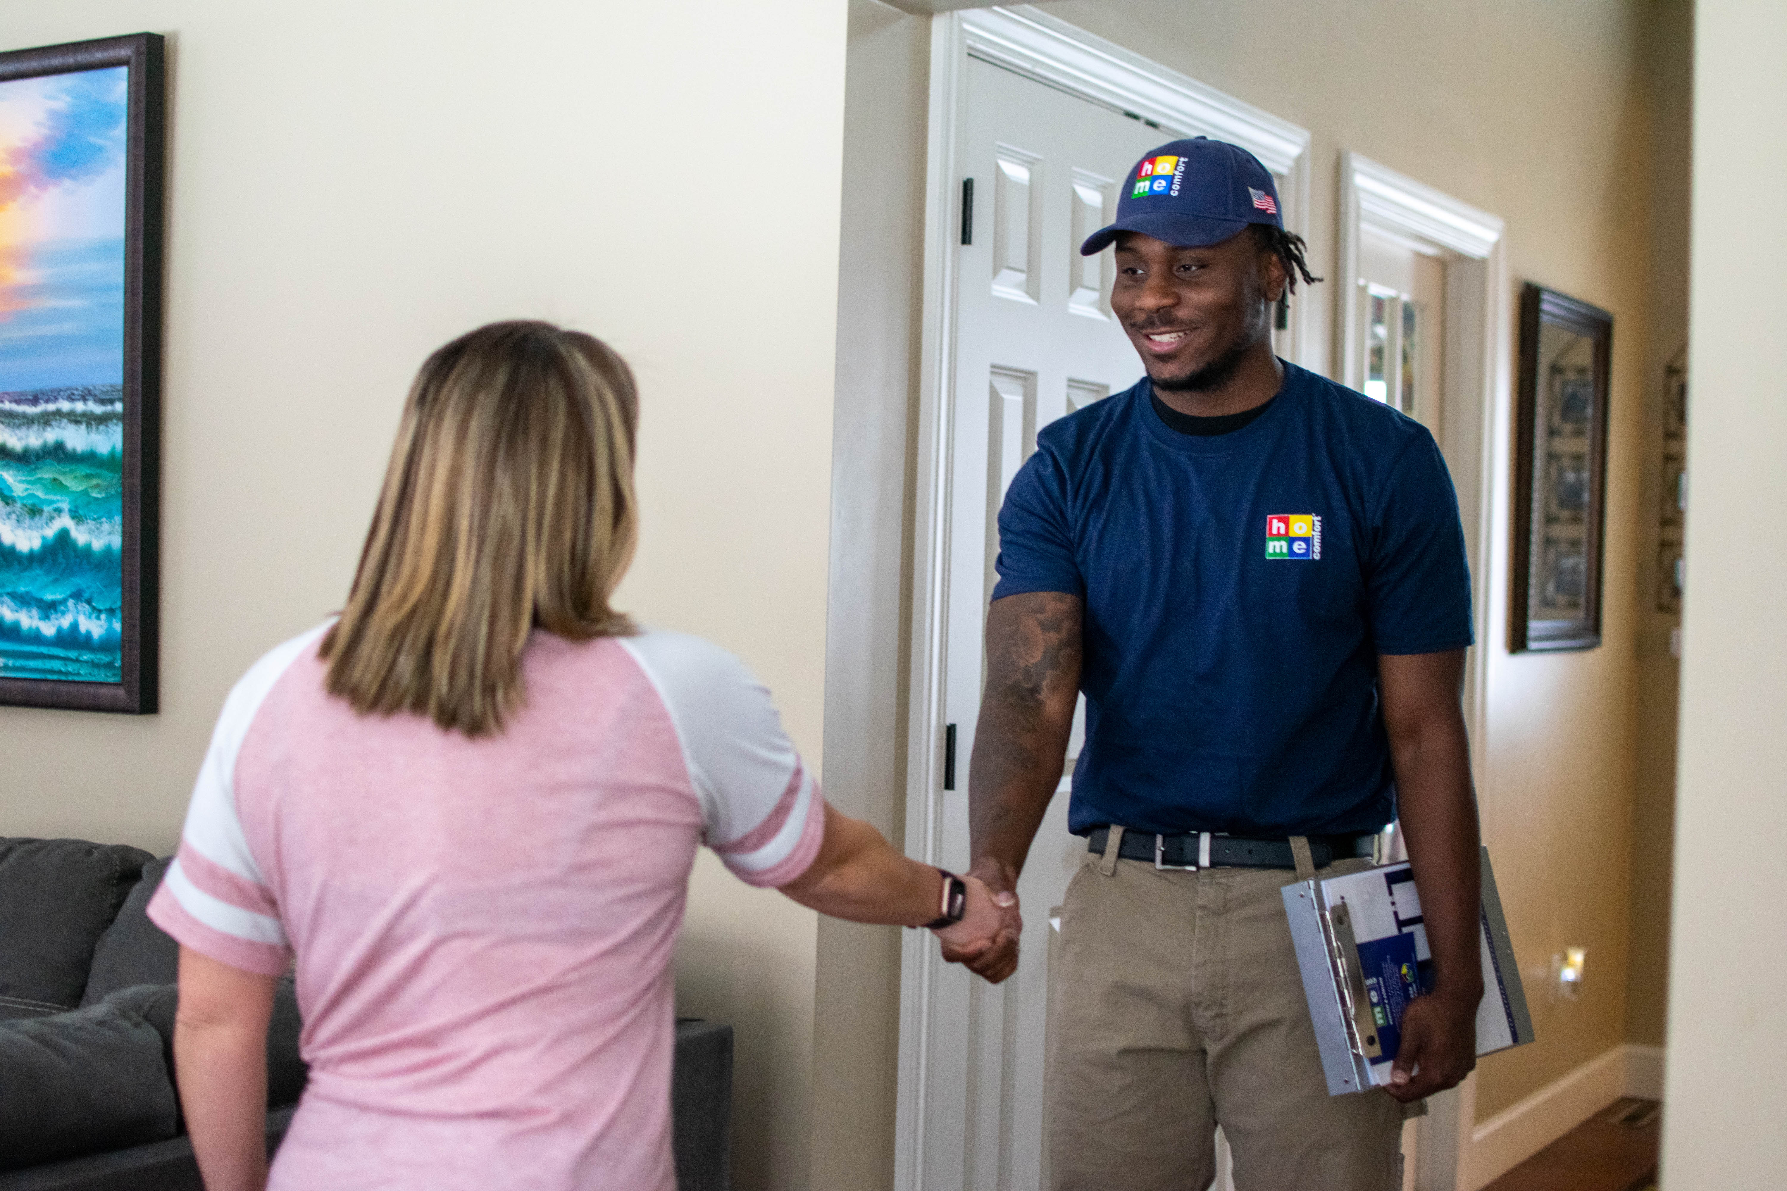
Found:
<svg viewBox="0 0 1787 1191"><path fill-rule="evenodd" d="M1528 282L1514 446L1508 648L1601 645L1614 316Z"/></svg>

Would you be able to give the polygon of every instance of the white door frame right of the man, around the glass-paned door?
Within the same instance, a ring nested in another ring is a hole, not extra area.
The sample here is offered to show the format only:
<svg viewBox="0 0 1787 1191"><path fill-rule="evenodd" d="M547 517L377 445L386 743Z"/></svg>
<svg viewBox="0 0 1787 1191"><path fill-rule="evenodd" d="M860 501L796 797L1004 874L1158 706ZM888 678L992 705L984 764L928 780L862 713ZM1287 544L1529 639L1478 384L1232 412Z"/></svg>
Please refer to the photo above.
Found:
<svg viewBox="0 0 1787 1191"><path fill-rule="evenodd" d="M1499 218L1415 182L1360 154L1340 154L1340 254L1335 279L1335 357L1340 382L1363 382L1358 346L1358 245L1365 229L1412 243L1446 262L1446 359L1440 379L1440 446L1458 487L1471 555L1476 648L1465 668L1464 711L1474 745L1478 791L1489 784L1489 661L1499 607L1501 561L1494 552L1496 434L1508 412L1508 254ZM1483 807L1489 818L1490 807ZM1476 1075L1435 1096L1415 1145L1417 1191L1474 1191Z"/></svg>

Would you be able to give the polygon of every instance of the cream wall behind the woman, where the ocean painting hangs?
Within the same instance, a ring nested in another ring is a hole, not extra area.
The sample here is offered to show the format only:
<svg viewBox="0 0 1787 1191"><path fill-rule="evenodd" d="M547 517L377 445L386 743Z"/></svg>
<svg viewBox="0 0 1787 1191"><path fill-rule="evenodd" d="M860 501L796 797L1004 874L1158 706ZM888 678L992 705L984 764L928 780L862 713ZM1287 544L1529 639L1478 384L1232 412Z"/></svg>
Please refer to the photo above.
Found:
<svg viewBox="0 0 1787 1191"><path fill-rule="evenodd" d="M481 321L643 389L620 605L742 654L817 764L845 9L7 4L170 37L163 712L0 709L0 834L173 846L223 693L341 604L416 364ZM681 1011L738 1027L736 1180L804 1187L815 916L697 868Z"/></svg>

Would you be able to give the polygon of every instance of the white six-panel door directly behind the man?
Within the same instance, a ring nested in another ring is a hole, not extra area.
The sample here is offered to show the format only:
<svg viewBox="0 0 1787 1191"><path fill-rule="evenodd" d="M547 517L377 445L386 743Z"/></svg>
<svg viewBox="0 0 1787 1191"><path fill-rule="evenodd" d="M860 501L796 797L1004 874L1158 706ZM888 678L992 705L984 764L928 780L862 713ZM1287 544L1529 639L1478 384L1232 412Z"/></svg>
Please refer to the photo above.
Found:
<svg viewBox="0 0 1787 1191"><path fill-rule="evenodd" d="M1142 364L1110 311L1112 254L1079 243L1115 214L1117 184L1170 134L970 59L958 162L974 179L972 227L956 268L949 450L944 720L956 725L954 789L940 855L969 864L967 775L985 679L986 600L997 514L1036 432L1135 384ZM1081 709L1083 711L1083 709ZM1081 729L1070 754L1078 754ZM1069 771L1072 755L1069 757ZM1083 855L1067 834L1067 780L1019 884L1022 961L999 987L936 966L920 1186L1047 1186L1044 1061L1051 916Z"/></svg>

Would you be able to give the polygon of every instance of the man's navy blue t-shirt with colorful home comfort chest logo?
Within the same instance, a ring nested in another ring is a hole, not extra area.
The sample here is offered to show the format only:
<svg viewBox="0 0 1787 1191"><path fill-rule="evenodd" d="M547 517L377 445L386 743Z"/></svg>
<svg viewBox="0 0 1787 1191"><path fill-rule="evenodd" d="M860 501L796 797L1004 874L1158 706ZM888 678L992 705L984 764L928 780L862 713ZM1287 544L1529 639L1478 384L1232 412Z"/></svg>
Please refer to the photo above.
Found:
<svg viewBox="0 0 1787 1191"><path fill-rule="evenodd" d="M1378 830L1378 655L1472 636L1433 436L1294 364L1231 434L1172 430L1149 393L1042 430L999 511L992 598L1085 600L1070 830Z"/></svg>

